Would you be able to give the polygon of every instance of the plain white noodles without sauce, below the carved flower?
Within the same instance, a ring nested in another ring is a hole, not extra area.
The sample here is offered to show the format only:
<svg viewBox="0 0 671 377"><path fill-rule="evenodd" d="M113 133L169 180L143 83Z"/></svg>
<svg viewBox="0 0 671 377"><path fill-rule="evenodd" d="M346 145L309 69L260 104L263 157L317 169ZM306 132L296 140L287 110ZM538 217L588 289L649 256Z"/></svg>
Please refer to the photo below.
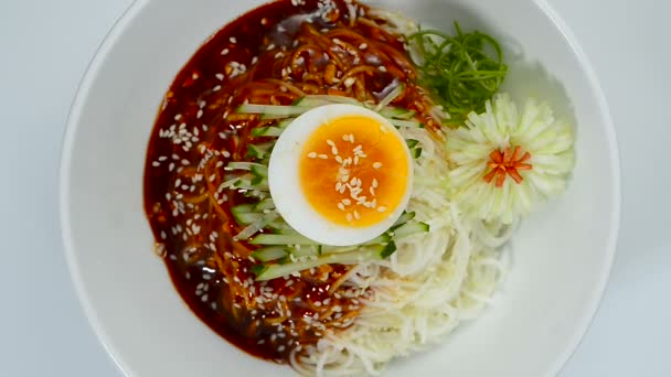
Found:
<svg viewBox="0 0 671 377"><path fill-rule="evenodd" d="M392 358L425 349L475 319L505 270L500 249L515 226L462 218L443 179L449 172L444 141L425 129L403 133L423 149L408 211L430 230L400 241L391 258L355 268L344 284L370 287L372 299L352 326L327 332L307 356L291 355L301 375L381 374Z"/></svg>

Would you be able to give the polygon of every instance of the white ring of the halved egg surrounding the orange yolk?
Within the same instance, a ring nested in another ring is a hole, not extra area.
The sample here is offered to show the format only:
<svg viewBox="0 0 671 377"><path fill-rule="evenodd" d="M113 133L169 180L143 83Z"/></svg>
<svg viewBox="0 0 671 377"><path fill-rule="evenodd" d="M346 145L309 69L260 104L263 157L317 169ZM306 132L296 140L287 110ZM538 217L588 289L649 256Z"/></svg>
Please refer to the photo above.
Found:
<svg viewBox="0 0 671 377"><path fill-rule="evenodd" d="M299 166L301 153L310 136L330 120L347 117L363 116L372 118L381 126L405 141L398 130L384 117L355 105L327 105L306 111L294 120L281 133L268 165L268 184L270 196L279 215L296 231L315 241L329 246L351 246L371 240L386 231L407 207L413 187L413 159L409 149L403 148L398 153L406 154L408 176L403 198L390 215L370 226L344 226L336 224L319 214L308 203L300 186Z"/></svg>

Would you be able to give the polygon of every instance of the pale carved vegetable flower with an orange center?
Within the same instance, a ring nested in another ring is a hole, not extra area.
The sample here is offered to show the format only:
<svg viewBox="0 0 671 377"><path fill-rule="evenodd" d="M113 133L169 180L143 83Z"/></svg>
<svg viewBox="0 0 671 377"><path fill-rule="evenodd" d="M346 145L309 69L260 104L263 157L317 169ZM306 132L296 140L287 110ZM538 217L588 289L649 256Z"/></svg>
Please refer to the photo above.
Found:
<svg viewBox="0 0 671 377"><path fill-rule="evenodd" d="M564 191L573 142L571 126L547 104L529 99L520 111L497 95L447 134L452 200L472 217L510 224Z"/></svg>

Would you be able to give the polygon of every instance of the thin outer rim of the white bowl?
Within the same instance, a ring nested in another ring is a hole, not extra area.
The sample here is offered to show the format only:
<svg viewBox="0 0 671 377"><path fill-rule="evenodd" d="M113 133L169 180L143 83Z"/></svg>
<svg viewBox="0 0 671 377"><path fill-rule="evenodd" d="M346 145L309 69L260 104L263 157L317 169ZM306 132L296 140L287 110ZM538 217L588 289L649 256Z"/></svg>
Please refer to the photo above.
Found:
<svg viewBox="0 0 671 377"><path fill-rule="evenodd" d="M126 26L135 20L141 9L147 6L150 0L134 0L117 18L105 37L98 44L95 50L93 57L90 58L85 73L79 80L76 94L72 101L70 112L66 120L65 131L63 133L61 143L61 161L58 165L58 212L60 212L60 227L61 227L61 239L64 249L65 260L72 283L74 286L77 300L79 305L84 310L87 322L94 331L98 342L107 353L108 357L115 363L117 368L125 376L134 376L135 371L127 365L126 360L121 357L121 352L117 349L108 335L105 326L102 324L100 317L93 306L86 283L81 274L82 266L77 258L77 252L73 246L73 230L71 226L71 214L67 212L70 207L70 181L71 176L71 162L72 162L72 150L74 146L75 134L77 133L78 127L81 126L79 119L84 104L90 90L92 84L95 82L99 74L99 69L103 67L105 58L110 50L119 41L119 36L126 30ZM611 218L609 225L609 235L606 247L606 258L599 271L599 280L596 286L593 287L592 299L585 305L582 317L577 319L577 325L573 330L573 336L569 342L564 345L564 351L555 357L553 364L548 365L546 375L555 376L566 365L568 359L575 354L578 346L581 345L584 336L590 328L594 319L600 308L600 304L608 286L613 265L615 262L618 236L620 228L620 216L621 216L621 160L619 152L619 144L617 134L615 131L615 125L613 117L606 100L606 95L599 83L598 76L594 71L594 67L587 57L586 53L577 42L577 39L568 24L561 18L558 12L548 3L547 0L531 0L550 20L551 23L558 30L563 39L567 42L569 49L577 57L578 63L587 76L587 84L592 89L593 95L598 104L598 112L604 119L605 125L605 139L609 146L610 155L609 160L613 162L613 203L611 203Z"/></svg>

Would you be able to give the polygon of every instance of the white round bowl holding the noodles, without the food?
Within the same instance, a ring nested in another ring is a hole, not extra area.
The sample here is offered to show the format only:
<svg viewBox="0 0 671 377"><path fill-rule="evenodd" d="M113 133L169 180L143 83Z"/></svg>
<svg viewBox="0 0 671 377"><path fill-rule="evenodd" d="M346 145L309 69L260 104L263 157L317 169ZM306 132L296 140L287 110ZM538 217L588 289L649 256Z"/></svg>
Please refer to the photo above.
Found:
<svg viewBox="0 0 671 377"><path fill-rule="evenodd" d="M74 103L61 170L63 240L90 323L129 376L290 375L247 356L184 305L142 207L142 173L158 106L199 45L262 3L138 0L109 33ZM550 376L577 346L613 262L619 219L614 129L596 77L542 0L381 1L433 25L477 26L501 39L516 96L547 98L577 125L568 192L524 222L501 300L390 375Z"/></svg>

